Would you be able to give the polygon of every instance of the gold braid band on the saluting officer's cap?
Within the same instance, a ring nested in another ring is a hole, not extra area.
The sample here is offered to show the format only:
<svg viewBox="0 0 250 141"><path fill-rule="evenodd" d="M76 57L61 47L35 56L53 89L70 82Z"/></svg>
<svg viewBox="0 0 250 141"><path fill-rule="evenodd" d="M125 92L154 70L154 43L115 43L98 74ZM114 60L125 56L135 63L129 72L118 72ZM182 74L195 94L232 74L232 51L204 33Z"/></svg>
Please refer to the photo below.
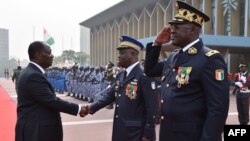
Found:
<svg viewBox="0 0 250 141"><path fill-rule="evenodd" d="M199 25L202 25L204 21L203 17L187 9L178 9L175 18L185 19L189 22L195 22Z"/></svg>

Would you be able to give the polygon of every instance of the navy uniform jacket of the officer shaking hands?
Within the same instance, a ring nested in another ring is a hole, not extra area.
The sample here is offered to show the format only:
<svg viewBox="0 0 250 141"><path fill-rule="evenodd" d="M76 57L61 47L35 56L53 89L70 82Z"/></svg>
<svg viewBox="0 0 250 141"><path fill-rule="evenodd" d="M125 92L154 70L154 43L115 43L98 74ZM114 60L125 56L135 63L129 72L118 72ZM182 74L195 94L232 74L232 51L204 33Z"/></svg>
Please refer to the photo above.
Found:
<svg viewBox="0 0 250 141"><path fill-rule="evenodd" d="M156 90L151 79L143 75L137 64L123 79L118 73L108 94L91 105L97 110L115 101L112 141L141 141L145 136L155 140Z"/></svg>

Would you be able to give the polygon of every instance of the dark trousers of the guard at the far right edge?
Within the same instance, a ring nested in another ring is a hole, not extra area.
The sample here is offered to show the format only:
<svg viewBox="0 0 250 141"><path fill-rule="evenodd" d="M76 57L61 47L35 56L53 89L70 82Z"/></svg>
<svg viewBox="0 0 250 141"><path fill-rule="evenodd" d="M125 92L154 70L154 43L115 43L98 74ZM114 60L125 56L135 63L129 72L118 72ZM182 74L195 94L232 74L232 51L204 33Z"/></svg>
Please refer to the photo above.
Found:
<svg viewBox="0 0 250 141"><path fill-rule="evenodd" d="M241 125L247 125L249 122L249 97L242 96L244 93L238 93L236 99L238 120Z"/></svg>

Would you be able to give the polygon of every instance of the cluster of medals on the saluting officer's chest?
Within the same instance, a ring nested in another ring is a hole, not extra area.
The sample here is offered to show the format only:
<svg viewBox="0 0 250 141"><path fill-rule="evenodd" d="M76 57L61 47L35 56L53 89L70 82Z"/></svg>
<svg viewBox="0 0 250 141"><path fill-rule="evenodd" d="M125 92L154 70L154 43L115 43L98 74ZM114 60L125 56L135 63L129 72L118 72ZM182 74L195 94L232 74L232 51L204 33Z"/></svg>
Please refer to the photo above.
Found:
<svg viewBox="0 0 250 141"><path fill-rule="evenodd" d="M176 80L178 81L177 87L180 88L181 85L188 84L189 74L192 71L192 67L179 67L178 74L176 75Z"/></svg>

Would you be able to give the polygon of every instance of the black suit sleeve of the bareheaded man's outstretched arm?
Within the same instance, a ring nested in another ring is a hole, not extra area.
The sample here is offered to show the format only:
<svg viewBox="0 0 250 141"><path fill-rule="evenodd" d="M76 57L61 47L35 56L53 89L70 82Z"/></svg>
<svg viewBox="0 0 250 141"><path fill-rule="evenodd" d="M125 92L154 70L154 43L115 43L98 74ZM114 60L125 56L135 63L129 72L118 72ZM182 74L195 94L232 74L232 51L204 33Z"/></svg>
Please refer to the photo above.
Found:
<svg viewBox="0 0 250 141"><path fill-rule="evenodd" d="M33 73L27 82L31 96L44 106L59 112L77 115L79 106L56 97L52 86L40 73Z"/></svg>

